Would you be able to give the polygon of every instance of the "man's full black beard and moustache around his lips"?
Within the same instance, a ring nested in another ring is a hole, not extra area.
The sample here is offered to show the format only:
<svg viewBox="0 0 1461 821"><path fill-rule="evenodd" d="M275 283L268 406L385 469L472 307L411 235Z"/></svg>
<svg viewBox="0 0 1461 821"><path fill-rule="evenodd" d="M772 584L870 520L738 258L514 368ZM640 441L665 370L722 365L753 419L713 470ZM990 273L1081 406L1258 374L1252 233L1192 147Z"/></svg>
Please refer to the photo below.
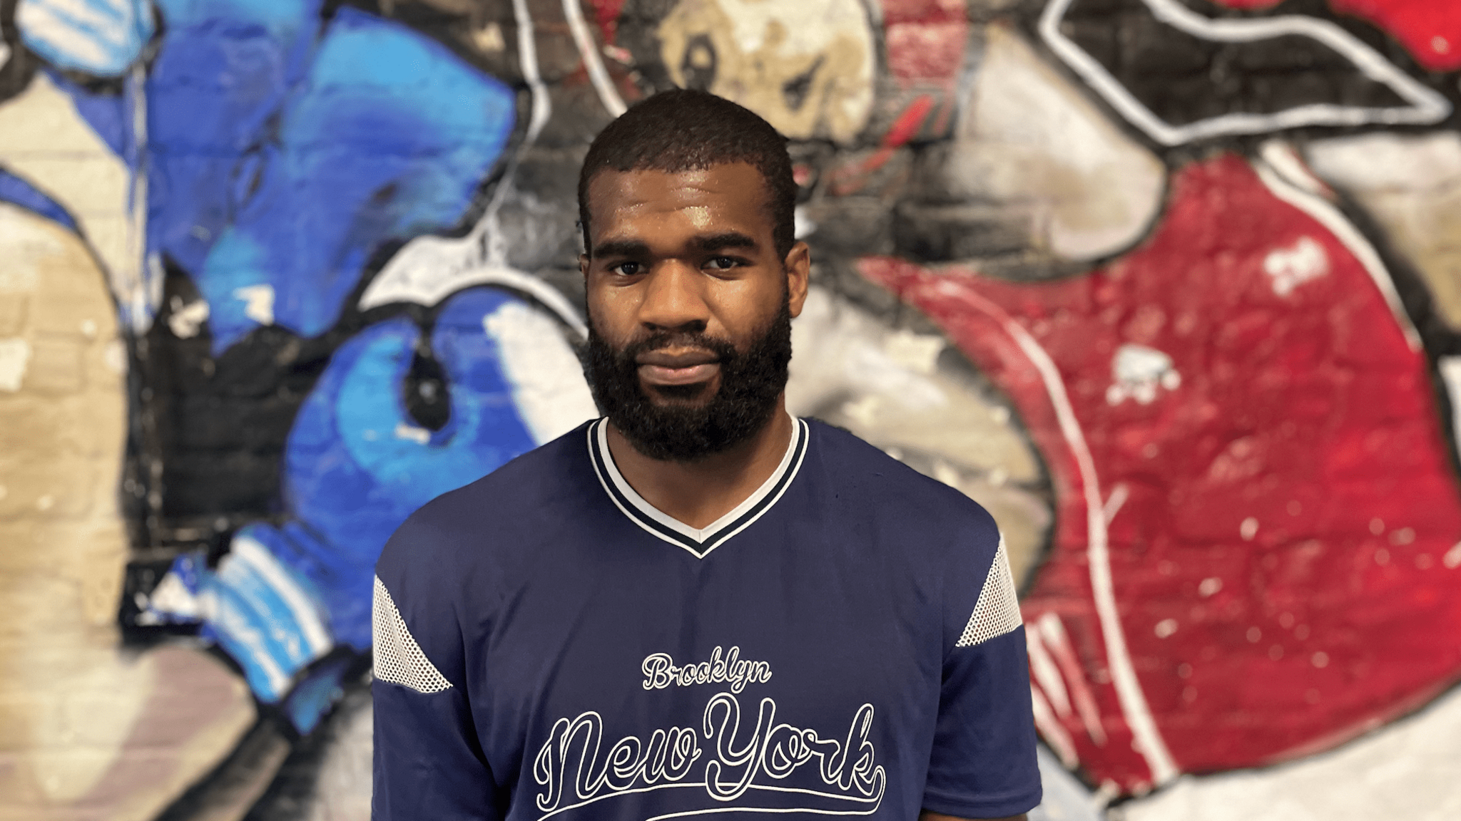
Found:
<svg viewBox="0 0 1461 821"><path fill-rule="evenodd" d="M662 386L668 402L649 396L640 383L641 354L668 346L712 351L720 364L720 386L704 400L706 384ZM725 339L704 333L660 332L615 351L589 326L587 377L593 399L634 450L660 462L697 462L729 450L760 432L786 389L792 361L789 297L742 354Z"/></svg>

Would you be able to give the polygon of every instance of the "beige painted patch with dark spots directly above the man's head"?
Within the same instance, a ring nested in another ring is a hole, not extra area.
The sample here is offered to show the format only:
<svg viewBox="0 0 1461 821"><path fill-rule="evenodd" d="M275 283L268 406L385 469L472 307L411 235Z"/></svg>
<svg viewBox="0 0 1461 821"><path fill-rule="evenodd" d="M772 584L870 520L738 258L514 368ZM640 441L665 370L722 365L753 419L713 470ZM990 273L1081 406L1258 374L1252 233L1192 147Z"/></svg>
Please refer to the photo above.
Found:
<svg viewBox="0 0 1461 821"><path fill-rule="evenodd" d="M850 143L872 111L875 42L858 0L681 0L659 39L676 85L739 102L787 137Z"/></svg>

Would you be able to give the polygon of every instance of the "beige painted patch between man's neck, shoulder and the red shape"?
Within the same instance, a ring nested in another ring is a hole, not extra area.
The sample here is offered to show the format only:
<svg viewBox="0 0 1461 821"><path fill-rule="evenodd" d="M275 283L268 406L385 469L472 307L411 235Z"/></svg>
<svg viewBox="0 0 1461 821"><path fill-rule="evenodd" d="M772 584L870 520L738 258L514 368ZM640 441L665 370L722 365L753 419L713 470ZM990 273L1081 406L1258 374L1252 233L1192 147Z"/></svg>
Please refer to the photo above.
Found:
<svg viewBox="0 0 1461 821"><path fill-rule="evenodd" d="M1053 519L1030 489L1039 462L1007 408L937 367L941 348L812 288L792 323L787 409L847 428L985 505L1023 581Z"/></svg>

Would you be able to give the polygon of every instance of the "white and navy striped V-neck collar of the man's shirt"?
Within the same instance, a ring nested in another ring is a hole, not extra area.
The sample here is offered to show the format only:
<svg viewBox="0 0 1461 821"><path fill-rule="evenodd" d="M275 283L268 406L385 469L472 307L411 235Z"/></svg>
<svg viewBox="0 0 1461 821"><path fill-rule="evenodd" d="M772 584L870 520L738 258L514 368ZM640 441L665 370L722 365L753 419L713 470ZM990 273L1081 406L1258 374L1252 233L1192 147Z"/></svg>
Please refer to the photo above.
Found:
<svg viewBox="0 0 1461 821"><path fill-rule="evenodd" d="M811 438L806 422L793 418L792 441L786 444L782 463L776 466L771 476L730 513L704 527L691 527L644 501L644 497L624 481L624 475L619 473L609 454L608 429L608 418L589 425L589 459L593 462L593 472L598 473L599 484L603 485L603 492L609 494L614 505L631 522L672 545L685 548L697 558L706 558L726 539L749 527L782 498L802 466L802 459L806 456L806 440Z"/></svg>

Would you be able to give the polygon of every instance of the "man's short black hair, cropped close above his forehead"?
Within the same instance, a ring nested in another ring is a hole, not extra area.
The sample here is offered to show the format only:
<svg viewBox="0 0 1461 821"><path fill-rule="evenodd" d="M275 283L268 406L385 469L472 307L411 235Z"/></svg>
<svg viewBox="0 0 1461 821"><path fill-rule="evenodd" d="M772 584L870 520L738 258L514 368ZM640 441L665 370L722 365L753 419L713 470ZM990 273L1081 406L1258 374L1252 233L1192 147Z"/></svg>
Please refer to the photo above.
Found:
<svg viewBox="0 0 1461 821"><path fill-rule="evenodd" d="M796 181L783 137L754 111L704 91L672 89L637 102L599 131L579 171L579 222L589 240L589 183L600 171L704 171L745 162L766 181L776 254L796 243Z"/></svg>

